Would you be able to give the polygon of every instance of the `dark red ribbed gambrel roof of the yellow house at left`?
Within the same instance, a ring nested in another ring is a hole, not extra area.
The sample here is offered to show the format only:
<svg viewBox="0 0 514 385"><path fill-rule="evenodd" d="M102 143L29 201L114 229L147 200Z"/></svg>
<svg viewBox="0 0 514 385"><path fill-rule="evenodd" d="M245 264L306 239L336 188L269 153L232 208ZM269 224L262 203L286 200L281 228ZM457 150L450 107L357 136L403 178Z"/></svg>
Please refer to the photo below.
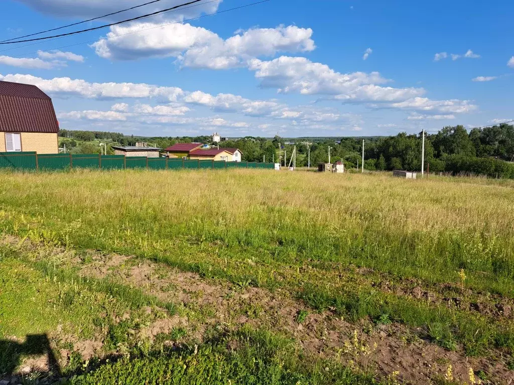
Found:
<svg viewBox="0 0 514 385"><path fill-rule="evenodd" d="M52 100L36 86L0 81L0 131L59 132Z"/></svg>

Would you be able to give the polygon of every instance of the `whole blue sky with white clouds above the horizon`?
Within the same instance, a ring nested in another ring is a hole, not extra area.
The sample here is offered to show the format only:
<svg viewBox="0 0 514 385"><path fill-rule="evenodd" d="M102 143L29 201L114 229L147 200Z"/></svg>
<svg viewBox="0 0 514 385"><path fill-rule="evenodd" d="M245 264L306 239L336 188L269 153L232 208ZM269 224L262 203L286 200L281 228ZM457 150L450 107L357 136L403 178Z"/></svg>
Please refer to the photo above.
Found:
<svg viewBox="0 0 514 385"><path fill-rule="evenodd" d="M269 0L230 11L255 1L0 45L0 80L42 88L61 128L142 136L389 135L514 119L512 2ZM144 2L4 0L0 40Z"/></svg>

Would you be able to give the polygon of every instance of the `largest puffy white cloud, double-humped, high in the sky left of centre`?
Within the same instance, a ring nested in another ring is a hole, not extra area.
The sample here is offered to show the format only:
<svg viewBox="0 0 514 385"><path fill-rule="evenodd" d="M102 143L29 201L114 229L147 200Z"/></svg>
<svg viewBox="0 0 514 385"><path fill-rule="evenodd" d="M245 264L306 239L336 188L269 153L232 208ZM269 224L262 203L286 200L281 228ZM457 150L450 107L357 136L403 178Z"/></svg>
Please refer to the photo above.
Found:
<svg viewBox="0 0 514 385"><path fill-rule="evenodd" d="M186 67L227 69L244 66L259 56L315 49L313 30L296 26L252 28L223 40L216 33L190 24L134 23L114 26L106 38L92 46L106 59L177 57ZM118 35L123 35L115 37Z"/></svg>

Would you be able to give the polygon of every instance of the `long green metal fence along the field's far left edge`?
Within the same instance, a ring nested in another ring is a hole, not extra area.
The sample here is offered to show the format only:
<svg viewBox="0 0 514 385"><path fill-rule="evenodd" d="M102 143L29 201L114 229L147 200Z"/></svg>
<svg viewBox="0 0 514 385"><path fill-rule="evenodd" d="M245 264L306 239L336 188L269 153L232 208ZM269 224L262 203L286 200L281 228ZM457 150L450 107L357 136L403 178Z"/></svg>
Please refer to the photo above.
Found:
<svg viewBox="0 0 514 385"><path fill-rule="evenodd" d="M98 154L38 154L36 152L0 152L0 168L24 170L66 170L73 168L155 170L274 168L273 163L225 162L174 158L125 157Z"/></svg>

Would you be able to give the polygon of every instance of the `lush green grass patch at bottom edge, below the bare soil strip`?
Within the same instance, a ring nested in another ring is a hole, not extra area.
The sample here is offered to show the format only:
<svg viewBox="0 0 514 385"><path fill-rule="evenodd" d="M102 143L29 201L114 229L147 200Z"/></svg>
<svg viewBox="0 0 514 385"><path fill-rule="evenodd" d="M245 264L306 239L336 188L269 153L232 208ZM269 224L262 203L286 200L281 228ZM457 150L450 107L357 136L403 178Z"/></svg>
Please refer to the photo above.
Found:
<svg viewBox="0 0 514 385"><path fill-rule="evenodd" d="M227 349L227 344L237 346ZM70 385L88 384L377 384L332 362L306 363L293 341L267 332L242 331L204 345L157 357L122 359L91 374L72 378ZM386 382L384 382L386 383Z"/></svg>

